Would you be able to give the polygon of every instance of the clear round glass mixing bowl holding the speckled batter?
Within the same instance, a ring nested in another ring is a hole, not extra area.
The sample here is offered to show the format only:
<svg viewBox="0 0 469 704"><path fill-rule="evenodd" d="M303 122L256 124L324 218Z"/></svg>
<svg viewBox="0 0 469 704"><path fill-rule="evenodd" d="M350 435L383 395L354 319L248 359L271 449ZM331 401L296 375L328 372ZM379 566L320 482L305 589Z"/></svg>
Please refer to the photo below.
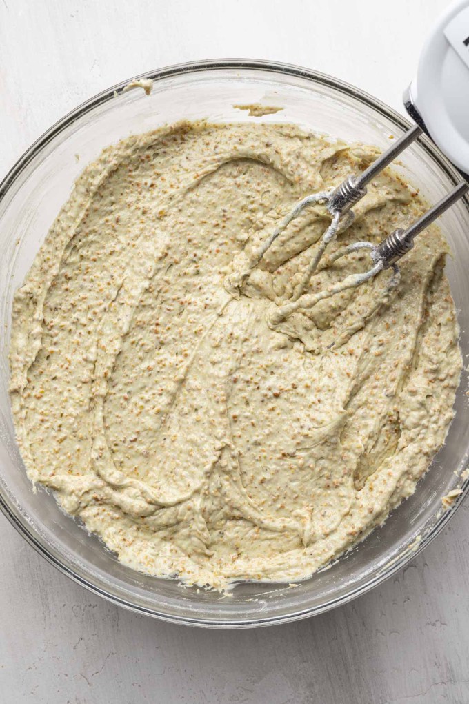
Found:
<svg viewBox="0 0 469 704"><path fill-rule="evenodd" d="M25 474L8 398L11 302L84 165L103 146L181 118L214 121L296 122L349 141L389 144L409 123L358 89L302 68L257 61L198 62L148 74L150 96L124 83L79 106L51 127L13 167L0 186L0 502L5 515L39 553L76 582L110 601L167 620L212 627L249 627L300 619L326 611L383 582L422 550L444 527L451 510L441 497L454 489L454 472L465 468L469 408L463 375L456 417L444 448L420 480L416 494L392 513L353 551L295 589L285 584L239 584L232 598L176 581L134 572L117 561L96 536L66 516L46 491L33 493ZM117 90L117 95L115 91ZM251 118L237 103L282 106L283 111ZM79 155L79 160L76 155ZM457 180L456 172L427 139L411 146L397 167L434 203ZM451 283L461 345L469 353L469 204L460 201L441 219L454 251ZM469 480L463 484L468 491ZM420 537L420 541L416 538Z"/></svg>

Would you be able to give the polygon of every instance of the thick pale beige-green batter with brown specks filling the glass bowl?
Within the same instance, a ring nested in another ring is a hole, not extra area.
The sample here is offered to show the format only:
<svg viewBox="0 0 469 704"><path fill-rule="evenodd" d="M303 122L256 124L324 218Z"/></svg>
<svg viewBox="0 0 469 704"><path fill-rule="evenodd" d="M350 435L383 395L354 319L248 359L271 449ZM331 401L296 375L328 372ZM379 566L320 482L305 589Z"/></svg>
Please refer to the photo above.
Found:
<svg viewBox="0 0 469 704"><path fill-rule="evenodd" d="M294 125L179 123L84 170L15 295L11 401L32 482L136 570L225 589L307 577L413 493L461 370L431 227L389 272L280 322L330 222L297 199L371 147ZM387 170L330 245L423 209ZM314 275L315 292L370 260ZM333 346L331 346L332 343Z"/></svg>

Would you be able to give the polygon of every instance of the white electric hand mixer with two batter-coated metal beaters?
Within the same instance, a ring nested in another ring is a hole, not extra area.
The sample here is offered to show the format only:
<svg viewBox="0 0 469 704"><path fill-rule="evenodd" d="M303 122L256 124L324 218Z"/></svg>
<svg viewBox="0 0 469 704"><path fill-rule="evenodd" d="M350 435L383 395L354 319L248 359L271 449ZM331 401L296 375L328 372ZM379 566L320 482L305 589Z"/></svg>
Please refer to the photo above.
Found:
<svg viewBox="0 0 469 704"><path fill-rule="evenodd" d="M361 175L350 175L331 192L311 194L302 199L252 256L250 269L259 263L277 237L304 208L312 203L326 204L332 222L323 234L315 256L293 296L271 315L272 325L277 325L300 308L311 308L324 298L359 286L381 270L390 267L394 273L387 285L387 291L396 287L399 282L397 261L412 249L416 235L469 191L469 0L459 0L440 18L420 55L417 77L404 95L404 105L416 122L414 127L371 163ZM366 185L423 132L461 172L463 181L407 230L394 230L377 246L367 241L356 242L342 247L328 257L328 263L333 263L352 251L368 250L372 260L368 271L349 275L342 282L333 284L319 293L304 293L328 244L353 221L352 206L366 194ZM248 275L248 272L245 272L245 275Z"/></svg>

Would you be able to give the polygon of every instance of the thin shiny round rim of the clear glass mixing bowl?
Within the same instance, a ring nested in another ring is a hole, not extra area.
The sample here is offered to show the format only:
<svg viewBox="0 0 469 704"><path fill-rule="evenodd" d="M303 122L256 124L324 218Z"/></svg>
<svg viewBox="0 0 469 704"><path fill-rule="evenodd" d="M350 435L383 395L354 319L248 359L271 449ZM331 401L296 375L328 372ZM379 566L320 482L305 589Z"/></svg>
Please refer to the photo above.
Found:
<svg viewBox="0 0 469 704"><path fill-rule="evenodd" d="M177 63L173 65L167 65L158 70L151 70L149 72L140 73L136 76L127 78L112 87L101 91L100 93L92 96L90 99L79 104L69 113L65 114L63 118L60 118L55 122L49 130L46 130L41 136L32 143L32 145L23 153L22 156L16 161L13 167L7 172L6 176L0 182L0 203L3 201L4 197L11 189L15 181L20 177L23 170L27 165L34 159L37 154L41 152L44 147L49 144L60 132L65 130L72 122L76 122L79 118L82 118L86 113L89 113L94 108L106 103L114 98L115 92L121 91L129 82L133 80L150 79L153 82L158 82L169 77L180 77L184 74L191 73L204 73L204 72L214 72L217 70L252 70L260 71L270 74L282 74L291 77L303 78L311 81L314 84L319 84L323 87L328 87L333 89L335 92L340 92L352 98L356 101L364 103L366 106L373 109L373 111L380 113L387 120L390 120L395 127L405 131L412 126L412 123L400 115L393 108L388 106L383 101L376 99L370 94L362 91L361 89L349 84L345 81L339 80L335 77L327 75L325 73L320 73L316 70L311 70L309 68L303 68L290 63L281 63L277 61L268 60L255 60L255 59L244 59L244 58L224 58L224 59L214 59L214 60L201 60L201 61L191 61L186 63ZM446 157L439 151L439 149L432 144L431 140L423 134L419 138L419 146L421 149L428 153L428 156L432 158L433 161L437 163L440 170L444 172L449 180L457 184L461 181L461 175L458 173L456 168L446 159ZM465 196L462 199L465 202L466 208L469 209L469 197ZM456 497L454 504L442 512L442 515L437 519L435 524L432 525L431 529L425 536L422 537L420 542L413 545L411 549L409 546L402 549L401 554L398 555L392 562L386 565L384 568L378 570L373 577L368 578L364 584L356 586L354 589L347 591L347 593L336 598L328 599L320 605L311 606L308 608L303 608L295 612L283 613L280 615L271 616L259 616L259 617L249 617L243 620L230 620L230 619L217 619L211 616L207 617L188 617L186 615L174 614L160 611L158 609L149 608L147 606L132 603L132 601L123 598L122 596L117 596L115 593L110 593L105 591L98 584L94 584L89 579L83 576L83 574L78 574L75 568L68 566L65 560L60 556L54 554L56 551L51 548L51 546L46 545L46 541L41 538L35 529L32 529L31 525L21 512L15 506L15 501L12 501L8 496L8 491L4 491L1 487L2 482L0 482L0 510L4 513L8 521L15 527L20 535L46 560L56 567L60 572L66 574L70 579L77 584L81 584L86 589L92 593L97 594L105 598L111 603L127 608L137 613L142 613L145 615L150 615L156 617L160 620L166 622L174 622L179 624L186 624L199 627L212 627L219 629L240 629L240 628L252 628L273 625L278 623L287 623L297 620L301 620L313 615L319 615L320 613L326 612L330 609L336 608L339 605L343 605L352 601L354 598L361 596L362 594L371 591L378 584L382 584L386 579L392 577L395 572L400 570L404 565L406 565L409 560L413 559L418 555L423 548L428 546L430 542L442 531L446 526L447 522L454 515L456 510L459 508L465 495L469 491L469 478L463 482L461 489L462 493Z"/></svg>

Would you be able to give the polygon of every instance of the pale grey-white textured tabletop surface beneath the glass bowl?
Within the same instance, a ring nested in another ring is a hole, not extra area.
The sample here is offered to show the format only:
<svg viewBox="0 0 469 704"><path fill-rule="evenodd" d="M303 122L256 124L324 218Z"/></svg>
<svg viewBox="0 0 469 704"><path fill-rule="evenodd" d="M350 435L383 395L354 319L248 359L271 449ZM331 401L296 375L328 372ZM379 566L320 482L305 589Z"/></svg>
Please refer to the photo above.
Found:
<svg viewBox="0 0 469 704"><path fill-rule="evenodd" d="M272 58L401 109L445 0L0 0L0 176L117 81L197 58ZM250 631L133 615L56 572L0 517L1 704L469 701L469 511L389 582Z"/></svg>

